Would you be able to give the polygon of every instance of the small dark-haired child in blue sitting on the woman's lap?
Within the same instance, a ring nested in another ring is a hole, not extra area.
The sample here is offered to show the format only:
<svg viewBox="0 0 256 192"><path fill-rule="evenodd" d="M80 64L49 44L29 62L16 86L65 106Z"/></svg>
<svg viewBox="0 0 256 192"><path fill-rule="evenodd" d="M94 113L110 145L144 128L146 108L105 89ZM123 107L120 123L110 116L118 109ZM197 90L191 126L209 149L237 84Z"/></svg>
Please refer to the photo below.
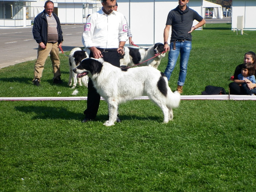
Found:
<svg viewBox="0 0 256 192"><path fill-rule="evenodd" d="M256 83L255 80L255 69L252 63L244 63L242 65L241 74L238 75L238 79L234 80L235 83L241 85L242 92L246 95L255 95L255 89L249 89L247 83Z"/></svg>

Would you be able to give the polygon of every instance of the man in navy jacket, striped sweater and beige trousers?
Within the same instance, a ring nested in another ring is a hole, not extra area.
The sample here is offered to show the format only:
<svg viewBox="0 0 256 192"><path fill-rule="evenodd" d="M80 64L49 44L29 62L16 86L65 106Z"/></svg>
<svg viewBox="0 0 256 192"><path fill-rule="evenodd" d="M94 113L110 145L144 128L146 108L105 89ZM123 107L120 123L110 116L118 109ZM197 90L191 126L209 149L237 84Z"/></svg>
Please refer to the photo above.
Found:
<svg viewBox="0 0 256 192"><path fill-rule="evenodd" d="M34 39L38 43L33 79L36 86L40 86L45 61L49 54L53 68L53 83L62 83L60 79L59 47L62 46L63 35L60 20L53 13L54 4L52 1L46 1L44 8L44 11L35 17L32 30Z"/></svg>

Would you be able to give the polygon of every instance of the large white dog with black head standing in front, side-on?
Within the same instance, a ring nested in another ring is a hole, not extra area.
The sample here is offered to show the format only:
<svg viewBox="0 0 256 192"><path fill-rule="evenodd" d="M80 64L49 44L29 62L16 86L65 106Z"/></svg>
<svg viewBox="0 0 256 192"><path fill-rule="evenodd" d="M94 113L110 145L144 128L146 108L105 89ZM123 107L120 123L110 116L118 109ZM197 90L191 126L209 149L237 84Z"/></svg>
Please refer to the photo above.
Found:
<svg viewBox="0 0 256 192"><path fill-rule="evenodd" d="M114 125L118 105L147 95L163 112L163 123L173 119L173 108L179 106L180 94L172 92L166 76L154 67L118 68L101 59L87 58L73 69L79 77L88 75L97 92L108 103L109 120Z"/></svg>

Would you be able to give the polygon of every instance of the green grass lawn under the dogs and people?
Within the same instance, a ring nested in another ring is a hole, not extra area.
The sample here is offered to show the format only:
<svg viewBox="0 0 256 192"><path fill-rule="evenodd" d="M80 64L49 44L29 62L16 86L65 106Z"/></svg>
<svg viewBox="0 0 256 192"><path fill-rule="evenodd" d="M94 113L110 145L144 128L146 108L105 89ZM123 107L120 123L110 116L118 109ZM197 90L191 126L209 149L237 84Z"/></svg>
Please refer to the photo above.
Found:
<svg viewBox="0 0 256 192"><path fill-rule="evenodd" d="M256 52L256 31L230 28L193 31L183 95L200 95L207 85L228 91L244 53ZM42 86L33 86L35 61L27 61L0 69L0 97L73 96L68 57L60 57L63 84L52 83L48 59ZM160 71L166 63L167 55ZM150 101L130 101L112 127L103 125L105 101L97 121L82 124L85 108L86 101L0 101L0 191L256 191L255 101L182 100L167 124Z"/></svg>

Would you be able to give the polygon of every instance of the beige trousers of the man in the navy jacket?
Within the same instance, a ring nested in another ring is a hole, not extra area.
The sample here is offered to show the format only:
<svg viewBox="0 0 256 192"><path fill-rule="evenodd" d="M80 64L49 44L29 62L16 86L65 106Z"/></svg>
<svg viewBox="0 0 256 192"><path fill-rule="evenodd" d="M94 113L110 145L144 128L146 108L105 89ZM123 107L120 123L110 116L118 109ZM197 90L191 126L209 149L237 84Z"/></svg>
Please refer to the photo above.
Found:
<svg viewBox="0 0 256 192"><path fill-rule="evenodd" d="M34 67L34 79L39 79L40 81L43 70L44 70L45 61L49 56L49 54L50 54L50 59L52 61L53 79L60 76L60 59L59 59L58 42L47 43L46 49L42 49L38 45L37 61L35 62L35 67Z"/></svg>

